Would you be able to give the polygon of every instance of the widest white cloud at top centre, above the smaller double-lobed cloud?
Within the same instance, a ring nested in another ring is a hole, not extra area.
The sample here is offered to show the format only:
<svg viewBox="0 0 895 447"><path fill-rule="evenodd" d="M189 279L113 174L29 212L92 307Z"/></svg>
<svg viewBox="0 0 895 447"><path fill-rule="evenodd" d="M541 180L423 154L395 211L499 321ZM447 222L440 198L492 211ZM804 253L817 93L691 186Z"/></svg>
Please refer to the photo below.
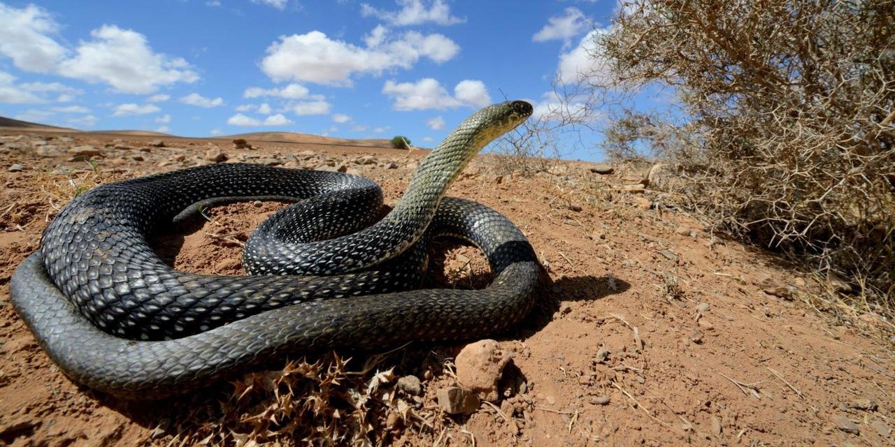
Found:
<svg viewBox="0 0 895 447"><path fill-rule="evenodd" d="M440 34L423 36L408 31L389 38L383 27L377 27L364 40L366 47L355 46L317 30L283 36L268 46L261 70L273 80L350 86L355 73L379 75L387 70L410 69L421 57L443 63L460 51L453 40Z"/></svg>

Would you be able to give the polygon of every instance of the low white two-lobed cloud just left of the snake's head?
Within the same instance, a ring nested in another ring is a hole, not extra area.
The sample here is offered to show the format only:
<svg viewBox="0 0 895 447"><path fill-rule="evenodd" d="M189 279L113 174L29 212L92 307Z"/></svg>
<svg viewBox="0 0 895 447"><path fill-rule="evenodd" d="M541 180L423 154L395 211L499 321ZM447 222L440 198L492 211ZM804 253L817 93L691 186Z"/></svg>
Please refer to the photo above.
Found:
<svg viewBox="0 0 895 447"><path fill-rule="evenodd" d="M482 106L490 104L488 90L481 80L461 80L454 88L455 96L447 93L438 80L424 78L416 82L397 83L387 80L382 93L393 97L395 110L427 110L456 108L462 105Z"/></svg>

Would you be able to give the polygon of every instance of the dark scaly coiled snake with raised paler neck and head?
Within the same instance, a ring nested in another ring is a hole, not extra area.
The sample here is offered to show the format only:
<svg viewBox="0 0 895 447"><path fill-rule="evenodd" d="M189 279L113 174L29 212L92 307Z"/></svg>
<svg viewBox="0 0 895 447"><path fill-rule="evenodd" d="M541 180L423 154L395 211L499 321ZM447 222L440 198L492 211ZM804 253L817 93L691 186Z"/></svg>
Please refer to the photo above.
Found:
<svg viewBox="0 0 895 447"><path fill-rule="evenodd" d="M10 280L16 313L76 384L125 399L190 392L296 353L379 350L499 333L533 308L540 266L514 223L446 197L483 147L533 113L473 113L426 156L381 217L373 181L223 163L109 182L75 197ZM150 238L206 206L275 199L243 249L246 275L175 270ZM482 250L481 290L421 289L432 238Z"/></svg>

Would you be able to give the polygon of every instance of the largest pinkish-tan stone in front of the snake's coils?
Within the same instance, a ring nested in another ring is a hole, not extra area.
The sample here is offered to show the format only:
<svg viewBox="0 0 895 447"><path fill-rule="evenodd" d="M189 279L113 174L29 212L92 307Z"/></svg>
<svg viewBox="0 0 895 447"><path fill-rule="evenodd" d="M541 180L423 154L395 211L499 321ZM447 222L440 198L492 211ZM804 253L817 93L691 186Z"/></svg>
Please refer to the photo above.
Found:
<svg viewBox="0 0 895 447"><path fill-rule="evenodd" d="M456 355L456 378L485 401L500 399L498 381L511 358L494 340L467 344Z"/></svg>

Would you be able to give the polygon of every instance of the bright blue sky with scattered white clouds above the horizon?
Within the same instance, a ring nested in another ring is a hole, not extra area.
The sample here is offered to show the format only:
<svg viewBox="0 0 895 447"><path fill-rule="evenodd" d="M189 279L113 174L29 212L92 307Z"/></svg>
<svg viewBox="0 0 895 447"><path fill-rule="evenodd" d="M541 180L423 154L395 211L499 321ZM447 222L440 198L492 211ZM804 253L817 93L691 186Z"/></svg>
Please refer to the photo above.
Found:
<svg viewBox="0 0 895 447"><path fill-rule="evenodd" d="M203 137L396 134L433 147L473 110L551 102L589 69L611 0L0 3L0 115ZM598 137L585 136L589 142ZM580 149L576 158L600 158Z"/></svg>

